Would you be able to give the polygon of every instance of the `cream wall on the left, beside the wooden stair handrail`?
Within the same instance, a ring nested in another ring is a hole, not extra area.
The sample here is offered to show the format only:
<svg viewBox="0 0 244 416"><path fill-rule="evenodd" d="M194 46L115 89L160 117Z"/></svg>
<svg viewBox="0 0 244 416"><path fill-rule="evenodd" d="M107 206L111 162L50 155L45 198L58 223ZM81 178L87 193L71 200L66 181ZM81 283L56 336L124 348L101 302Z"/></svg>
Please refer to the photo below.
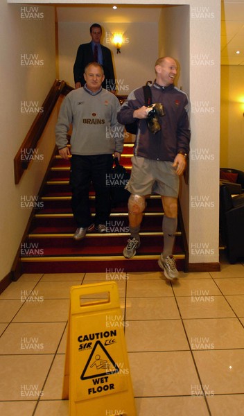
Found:
<svg viewBox="0 0 244 416"><path fill-rule="evenodd" d="M54 146L54 136L49 141L41 139L39 161L31 162L31 168L15 185L13 159L35 119L35 108L42 106L55 80L54 8L37 8L39 19L26 19L21 5L10 5L5 0L0 3L0 280L10 272L30 216L30 208L21 208L21 198L37 194ZM34 54L35 58L30 57ZM27 113L34 101L32 114Z"/></svg>

